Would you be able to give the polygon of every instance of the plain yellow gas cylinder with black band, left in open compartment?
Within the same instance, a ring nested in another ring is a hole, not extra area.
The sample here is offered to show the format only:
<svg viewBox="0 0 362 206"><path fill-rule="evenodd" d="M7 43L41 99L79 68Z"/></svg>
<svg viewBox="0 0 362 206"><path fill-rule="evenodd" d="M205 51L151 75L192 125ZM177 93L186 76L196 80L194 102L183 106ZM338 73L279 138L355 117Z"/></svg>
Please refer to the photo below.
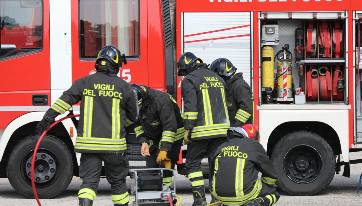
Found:
<svg viewBox="0 0 362 206"><path fill-rule="evenodd" d="M262 54L262 88L264 91L274 88L274 49L273 47L263 47ZM268 89L266 89L268 88Z"/></svg>

